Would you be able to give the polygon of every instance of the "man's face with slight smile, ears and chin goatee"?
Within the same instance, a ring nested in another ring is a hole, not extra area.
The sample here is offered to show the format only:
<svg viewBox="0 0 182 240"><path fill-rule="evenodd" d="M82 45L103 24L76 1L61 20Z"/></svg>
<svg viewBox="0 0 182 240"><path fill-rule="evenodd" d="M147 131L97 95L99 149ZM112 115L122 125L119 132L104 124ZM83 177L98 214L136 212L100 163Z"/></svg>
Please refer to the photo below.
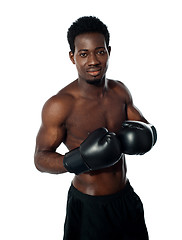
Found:
<svg viewBox="0 0 182 240"><path fill-rule="evenodd" d="M71 61L76 65L80 80L94 84L105 77L110 54L104 35L84 33L75 38L75 52L70 52Z"/></svg>

